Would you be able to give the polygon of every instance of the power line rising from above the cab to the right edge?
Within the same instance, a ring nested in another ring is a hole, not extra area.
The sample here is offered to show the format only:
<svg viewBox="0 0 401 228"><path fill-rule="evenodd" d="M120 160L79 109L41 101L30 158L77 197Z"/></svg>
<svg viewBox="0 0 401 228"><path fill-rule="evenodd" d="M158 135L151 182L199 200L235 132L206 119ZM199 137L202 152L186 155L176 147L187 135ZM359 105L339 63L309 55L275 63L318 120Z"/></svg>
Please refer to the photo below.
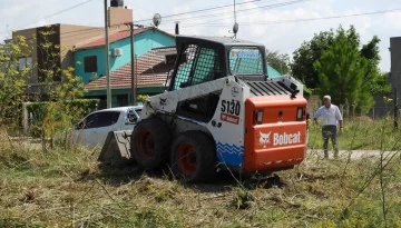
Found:
<svg viewBox="0 0 401 228"><path fill-rule="evenodd" d="M369 16L369 14L382 14L388 12L400 12L401 9L392 9L392 10L381 10L381 11L373 11L373 12L363 12L363 13L353 13L353 14L343 14L343 16L331 16L331 17L322 17L322 18L304 18L304 19L294 19L294 20L276 20L276 21L261 21L261 22L238 22L241 26L263 26L263 24L272 24L272 23L294 23L294 22L305 22L305 21L316 21L316 20L330 20L330 19L340 19L340 18L351 18L351 17L361 17L361 16ZM222 27L222 26L229 26L225 23L194 23L187 24L183 28L194 27L194 26L202 26L202 27Z"/></svg>

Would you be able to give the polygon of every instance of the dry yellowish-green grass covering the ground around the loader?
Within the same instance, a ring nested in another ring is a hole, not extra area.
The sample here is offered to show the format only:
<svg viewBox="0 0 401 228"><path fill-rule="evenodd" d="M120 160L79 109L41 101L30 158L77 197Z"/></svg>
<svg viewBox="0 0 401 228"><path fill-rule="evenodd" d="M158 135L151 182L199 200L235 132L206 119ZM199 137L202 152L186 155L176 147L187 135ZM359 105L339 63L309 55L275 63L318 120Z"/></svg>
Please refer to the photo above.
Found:
<svg viewBox="0 0 401 228"><path fill-rule="evenodd" d="M311 132L317 148L319 128ZM398 135L380 123L345 122L340 145L391 148ZM21 145L0 136L0 227L401 227L397 152L384 160L382 182L379 159L322 160L312 152L293 170L242 186L229 174L185 185L168 171L100 167L97 150Z"/></svg>

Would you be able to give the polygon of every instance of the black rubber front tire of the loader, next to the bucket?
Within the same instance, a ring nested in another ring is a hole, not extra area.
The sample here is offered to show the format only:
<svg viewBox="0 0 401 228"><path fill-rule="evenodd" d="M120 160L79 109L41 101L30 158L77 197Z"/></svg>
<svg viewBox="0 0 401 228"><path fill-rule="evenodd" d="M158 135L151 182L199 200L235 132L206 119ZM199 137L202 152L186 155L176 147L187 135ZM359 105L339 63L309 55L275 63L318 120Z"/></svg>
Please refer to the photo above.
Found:
<svg viewBox="0 0 401 228"><path fill-rule="evenodd" d="M147 138L153 139L153 143L144 142L144 132ZM167 161L169 148L172 146L172 132L167 122L162 119L151 117L139 121L131 135L131 156L135 161L145 170L158 168ZM144 147L153 147L153 152L149 155Z"/></svg>

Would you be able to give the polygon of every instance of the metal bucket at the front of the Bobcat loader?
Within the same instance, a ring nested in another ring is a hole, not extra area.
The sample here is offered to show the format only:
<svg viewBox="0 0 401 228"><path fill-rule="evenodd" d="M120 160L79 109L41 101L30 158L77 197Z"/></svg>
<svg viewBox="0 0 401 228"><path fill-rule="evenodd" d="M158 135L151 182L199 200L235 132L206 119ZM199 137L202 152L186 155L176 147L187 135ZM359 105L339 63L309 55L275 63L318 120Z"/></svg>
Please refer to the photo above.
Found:
<svg viewBox="0 0 401 228"><path fill-rule="evenodd" d="M110 131L101 148L98 161L109 166L129 165L133 162L130 153L130 130Z"/></svg>

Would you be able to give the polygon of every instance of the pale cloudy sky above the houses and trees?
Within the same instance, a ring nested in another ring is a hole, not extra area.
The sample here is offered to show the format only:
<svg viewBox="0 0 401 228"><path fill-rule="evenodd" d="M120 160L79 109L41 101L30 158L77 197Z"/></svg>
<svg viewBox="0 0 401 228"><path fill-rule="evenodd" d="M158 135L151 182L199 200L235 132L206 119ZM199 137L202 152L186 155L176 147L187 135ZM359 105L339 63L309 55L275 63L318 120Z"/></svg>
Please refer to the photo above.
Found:
<svg viewBox="0 0 401 228"><path fill-rule="evenodd" d="M155 13L162 16L159 29L188 36L233 36L234 0L125 0L134 10L135 23L150 26ZM238 39L263 43L266 49L287 53L311 40L320 31L353 24L362 43L373 36L381 39L382 71L390 71L390 38L401 37L401 1L397 0L236 0ZM0 0L0 40L10 31L51 23L104 26L102 0ZM67 10L74 6L74 9ZM227 6L227 7L222 7ZM215 10L196 10L219 7ZM389 10L399 10L390 11ZM384 11L376 14L322 20L335 16ZM60 13L59 13L60 12ZM174 16L176 14L176 16ZM315 20L304 20L315 19Z"/></svg>

